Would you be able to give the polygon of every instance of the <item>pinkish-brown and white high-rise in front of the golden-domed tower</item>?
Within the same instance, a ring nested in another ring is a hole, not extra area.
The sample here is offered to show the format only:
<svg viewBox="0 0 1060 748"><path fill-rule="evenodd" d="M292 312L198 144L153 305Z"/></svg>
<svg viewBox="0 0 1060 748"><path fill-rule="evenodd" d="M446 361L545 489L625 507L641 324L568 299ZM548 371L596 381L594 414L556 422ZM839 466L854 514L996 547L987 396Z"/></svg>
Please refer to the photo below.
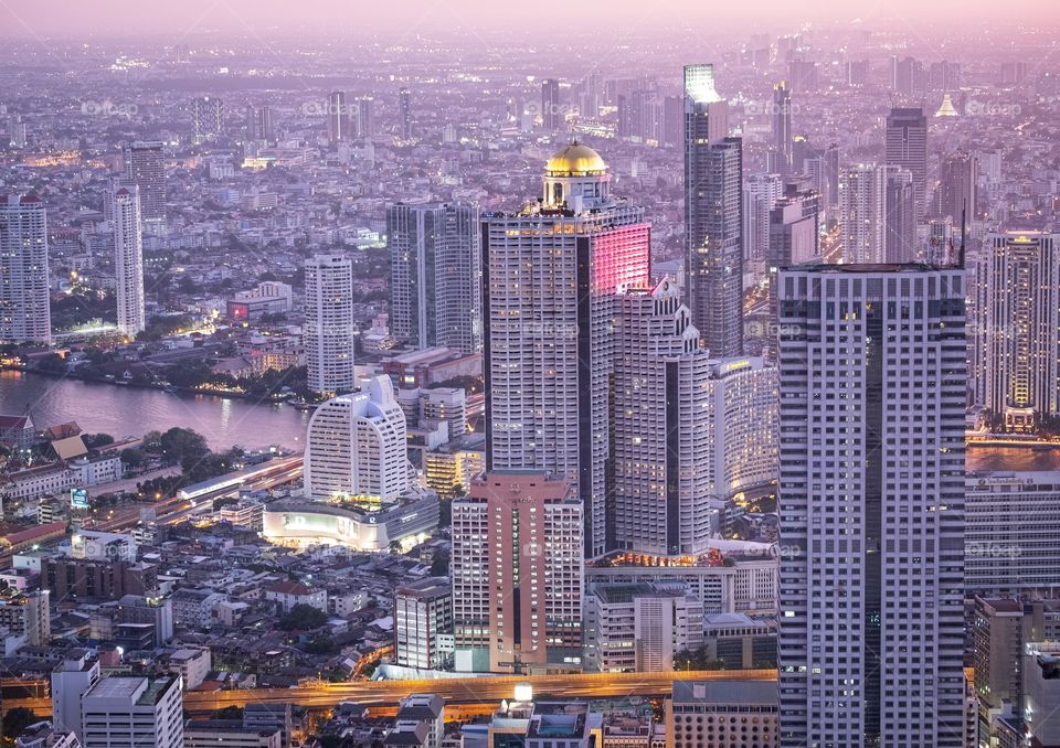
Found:
<svg viewBox="0 0 1060 748"><path fill-rule="evenodd" d="M576 669L582 649L582 503L566 481L487 471L453 501L456 669Z"/></svg>

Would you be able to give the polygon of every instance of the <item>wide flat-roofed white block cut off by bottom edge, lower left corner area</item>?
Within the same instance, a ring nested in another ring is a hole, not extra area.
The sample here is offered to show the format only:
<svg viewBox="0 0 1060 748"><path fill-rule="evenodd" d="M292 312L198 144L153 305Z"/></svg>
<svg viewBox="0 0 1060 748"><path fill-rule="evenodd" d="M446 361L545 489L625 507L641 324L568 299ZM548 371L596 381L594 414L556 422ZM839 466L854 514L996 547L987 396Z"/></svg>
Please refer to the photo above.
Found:
<svg viewBox="0 0 1060 748"><path fill-rule="evenodd" d="M183 746L180 676L105 677L82 696L81 714L84 748Z"/></svg>

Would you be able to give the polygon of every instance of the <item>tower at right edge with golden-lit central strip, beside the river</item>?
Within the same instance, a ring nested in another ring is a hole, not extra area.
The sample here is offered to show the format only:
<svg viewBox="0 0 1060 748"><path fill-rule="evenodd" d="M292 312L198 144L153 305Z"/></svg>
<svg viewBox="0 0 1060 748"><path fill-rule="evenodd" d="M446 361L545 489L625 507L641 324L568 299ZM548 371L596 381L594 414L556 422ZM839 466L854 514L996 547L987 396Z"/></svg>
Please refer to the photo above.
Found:
<svg viewBox="0 0 1060 748"><path fill-rule="evenodd" d="M1060 414L1060 234L988 235L974 300L975 402L1016 430Z"/></svg>

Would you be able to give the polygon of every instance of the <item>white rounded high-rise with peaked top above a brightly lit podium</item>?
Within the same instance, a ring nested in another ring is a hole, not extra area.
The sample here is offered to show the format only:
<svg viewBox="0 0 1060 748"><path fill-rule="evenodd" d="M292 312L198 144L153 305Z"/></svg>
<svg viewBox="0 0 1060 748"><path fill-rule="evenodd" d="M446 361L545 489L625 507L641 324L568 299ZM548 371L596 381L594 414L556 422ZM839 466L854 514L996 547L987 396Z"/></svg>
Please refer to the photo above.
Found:
<svg viewBox="0 0 1060 748"><path fill-rule="evenodd" d="M409 490L406 440L405 414L389 376L322 403L306 434L306 494L399 498Z"/></svg>

